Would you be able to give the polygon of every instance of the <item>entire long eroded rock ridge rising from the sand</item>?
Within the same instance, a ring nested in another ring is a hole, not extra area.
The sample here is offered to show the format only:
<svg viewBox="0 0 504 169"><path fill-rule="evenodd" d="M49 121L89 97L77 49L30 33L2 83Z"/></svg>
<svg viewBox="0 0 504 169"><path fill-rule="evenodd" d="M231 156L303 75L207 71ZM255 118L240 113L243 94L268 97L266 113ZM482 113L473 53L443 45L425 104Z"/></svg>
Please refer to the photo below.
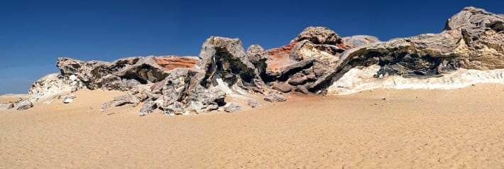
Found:
<svg viewBox="0 0 504 169"><path fill-rule="evenodd" d="M210 37L198 57L148 56L114 62L59 58L56 66L60 72L33 83L30 98L16 103L18 109L29 109L39 99L67 98L62 94L79 89L128 92L102 109L141 106L141 116L155 109L170 115L234 112L261 107L258 96L284 102L282 94L287 92L451 89L504 83L504 18L466 7L448 19L441 33L388 41L340 37L329 28L308 27L286 45L268 50L260 45L245 50L238 38ZM230 98L237 102L228 102Z"/></svg>

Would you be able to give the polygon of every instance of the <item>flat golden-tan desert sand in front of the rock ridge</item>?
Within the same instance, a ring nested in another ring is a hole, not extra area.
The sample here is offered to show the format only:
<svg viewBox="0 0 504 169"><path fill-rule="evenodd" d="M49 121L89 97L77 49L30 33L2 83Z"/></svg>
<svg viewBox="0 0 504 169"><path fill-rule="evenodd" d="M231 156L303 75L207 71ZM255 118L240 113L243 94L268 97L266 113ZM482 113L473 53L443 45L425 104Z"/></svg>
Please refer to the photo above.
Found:
<svg viewBox="0 0 504 169"><path fill-rule="evenodd" d="M0 111L0 168L504 168L504 85L290 95L234 114L99 113L118 94Z"/></svg>

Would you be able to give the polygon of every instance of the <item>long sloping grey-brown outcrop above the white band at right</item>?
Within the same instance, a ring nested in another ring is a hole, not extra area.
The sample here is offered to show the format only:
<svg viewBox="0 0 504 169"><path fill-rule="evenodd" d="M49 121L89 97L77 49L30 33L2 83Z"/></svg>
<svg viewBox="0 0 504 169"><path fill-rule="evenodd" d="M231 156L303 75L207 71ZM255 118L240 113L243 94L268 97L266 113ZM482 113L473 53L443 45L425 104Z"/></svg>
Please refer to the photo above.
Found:
<svg viewBox="0 0 504 169"><path fill-rule="evenodd" d="M379 65L375 77L429 77L458 68L504 68L503 17L483 9L466 7L447 21L442 33L427 33L352 48L341 55L334 70L309 89L320 91L351 67Z"/></svg>

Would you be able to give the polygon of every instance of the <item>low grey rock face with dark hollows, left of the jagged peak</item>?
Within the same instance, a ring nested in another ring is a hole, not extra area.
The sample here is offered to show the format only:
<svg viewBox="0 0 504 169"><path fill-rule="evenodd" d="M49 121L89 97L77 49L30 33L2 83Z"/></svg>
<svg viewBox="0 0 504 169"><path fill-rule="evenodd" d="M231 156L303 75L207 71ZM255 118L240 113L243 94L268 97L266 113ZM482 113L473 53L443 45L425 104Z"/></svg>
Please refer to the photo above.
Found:
<svg viewBox="0 0 504 169"><path fill-rule="evenodd" d="M77 76L88 89L126 91L138 83L159 82L168 76L168 71L158 65L154 57L123 58L114 62L59 58L56 65L61 75Z"/></svg>

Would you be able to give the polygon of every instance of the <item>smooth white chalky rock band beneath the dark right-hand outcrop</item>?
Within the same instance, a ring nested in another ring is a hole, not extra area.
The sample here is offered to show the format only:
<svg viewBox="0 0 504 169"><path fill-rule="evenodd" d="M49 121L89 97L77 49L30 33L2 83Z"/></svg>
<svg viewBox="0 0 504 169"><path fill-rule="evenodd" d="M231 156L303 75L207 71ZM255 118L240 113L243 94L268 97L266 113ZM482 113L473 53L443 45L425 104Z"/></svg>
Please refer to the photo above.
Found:
<svg viewBox="0 0 504 169"><path fill-rule="evenodd" d="M375 78L379 65L363 69L352 68L328 89L327 94L346 95L368 89L456 89L471 84L497 83L504 84L504 69L464 70L447 72L442 77L405 78L398 75L386 75Z"/></svg>

